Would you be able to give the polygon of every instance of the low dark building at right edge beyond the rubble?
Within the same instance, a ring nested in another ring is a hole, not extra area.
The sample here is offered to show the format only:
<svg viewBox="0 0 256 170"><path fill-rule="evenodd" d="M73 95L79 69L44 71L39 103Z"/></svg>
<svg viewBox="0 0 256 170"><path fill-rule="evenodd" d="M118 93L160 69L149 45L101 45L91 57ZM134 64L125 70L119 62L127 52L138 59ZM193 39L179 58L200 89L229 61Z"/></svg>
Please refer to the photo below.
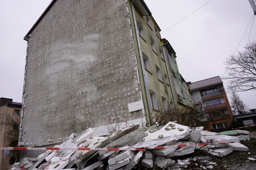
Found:
<svg viewBox="0 0 256 170"><path fill-rule="evenodd" d="M234 118L236 120L242 120L244 125L254 125L256 124L256 109L250 109L249 112L236 114Z"/></svg>

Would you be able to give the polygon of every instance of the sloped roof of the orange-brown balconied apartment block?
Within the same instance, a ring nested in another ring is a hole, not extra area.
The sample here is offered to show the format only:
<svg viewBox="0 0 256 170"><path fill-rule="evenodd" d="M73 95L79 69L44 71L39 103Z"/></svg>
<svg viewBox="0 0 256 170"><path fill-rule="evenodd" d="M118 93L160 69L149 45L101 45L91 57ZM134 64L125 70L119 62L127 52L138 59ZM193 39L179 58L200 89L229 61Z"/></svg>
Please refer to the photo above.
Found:
<svg viewBox="0 0 256 170"><path fill-rule="evenodd" d="M205 80L200 80L198 82L190 83L190 84L188 84L188 86L189 86L190 90L197 90L200 88L214 86L214 85L222 84L222 83L223 82L222 82L220 76L216 76L216 77L212 77L212 78L207 78Z"/></svg>

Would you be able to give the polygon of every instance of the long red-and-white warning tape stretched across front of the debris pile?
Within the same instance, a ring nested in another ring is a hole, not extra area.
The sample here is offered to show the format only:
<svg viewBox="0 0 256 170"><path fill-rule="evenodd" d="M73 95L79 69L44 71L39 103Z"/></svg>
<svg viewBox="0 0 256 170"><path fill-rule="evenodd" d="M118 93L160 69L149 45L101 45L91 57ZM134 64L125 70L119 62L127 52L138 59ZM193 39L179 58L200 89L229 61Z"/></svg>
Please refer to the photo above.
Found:
<svg viewBox="0 0 256 170"><path fill-rule="evenodd" d="M191 143L184 145L168 145L160 147L147 147L147 148L31 148L31 147L0 147L0 150L9 149L9 150L145 150L145 149L164 149L170 147L196 147L204 145L224 145L228 144L226 142L219 143Z"/></svg>

